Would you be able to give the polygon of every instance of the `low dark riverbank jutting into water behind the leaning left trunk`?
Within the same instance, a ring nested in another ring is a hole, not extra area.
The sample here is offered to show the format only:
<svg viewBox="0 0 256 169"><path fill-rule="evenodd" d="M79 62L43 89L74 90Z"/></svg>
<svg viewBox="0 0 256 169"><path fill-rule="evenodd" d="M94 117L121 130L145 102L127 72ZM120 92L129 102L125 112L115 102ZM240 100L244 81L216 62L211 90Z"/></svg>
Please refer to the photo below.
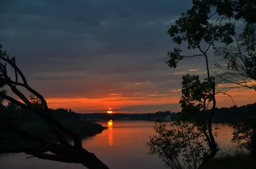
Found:
<svg viewBox="0 0 256 169"><path fill-rule="evenodd" d="M94 136L99 133L102 133L106 127L97 124L91 121L83 120L70 120L70 121L60 121L63 126L70 129L72 132L77 133L82 138L87 136ZM0 126L1 127L1 126ZM4 127L4 129L3 129ZM56 136L47 128L47 126L42 121L29 121L22 122L18 125L19 129L27 131L33 135L40 136L41 138L47 138L52 141L58 142ZM65 135L69 140L70 137ZM19 152L19 147L25 146L27 143L24 139L20 138L16 133L11 130L8 130L8 127L2 126L1 129L1 140L0 140L0 153L8 152L10 149L11 152ZM17 151L15 151L17 150Z"/></svg>

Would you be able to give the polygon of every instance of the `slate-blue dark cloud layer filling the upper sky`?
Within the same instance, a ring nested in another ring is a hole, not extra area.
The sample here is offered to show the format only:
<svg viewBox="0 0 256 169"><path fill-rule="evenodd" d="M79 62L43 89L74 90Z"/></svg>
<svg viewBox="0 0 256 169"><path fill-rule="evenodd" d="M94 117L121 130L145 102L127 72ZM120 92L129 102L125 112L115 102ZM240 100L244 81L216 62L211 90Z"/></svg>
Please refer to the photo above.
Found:
<svg viewBox="0 0 256 169"><path fill-rule="evenodd" d="M1 36L5 40L2 43L10 51L18 48L15 55L26 55L29 59L40 55L44 62L52 56L79 57L83 61L108 54L138 57L160 48L166 54L166 49L161 47L168 45L165 43L168 26L163 25L164 20L188 8L189 4L184 4L115 0L6 1L0 16ZM36 63L35 59L32 61Z"/></svg>

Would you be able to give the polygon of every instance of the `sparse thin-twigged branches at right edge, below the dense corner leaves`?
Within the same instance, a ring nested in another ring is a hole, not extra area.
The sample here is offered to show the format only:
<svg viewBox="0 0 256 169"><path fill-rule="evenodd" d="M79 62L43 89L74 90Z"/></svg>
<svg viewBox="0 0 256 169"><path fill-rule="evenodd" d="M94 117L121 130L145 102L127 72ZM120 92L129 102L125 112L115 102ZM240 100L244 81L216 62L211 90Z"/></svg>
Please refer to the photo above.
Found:
<svg viewBox="0 0 256 169"><path fill-rule="evenodd" d="M214 54L221 59L215 73L224 82L256 91L256 24L244 23L235 31L234 43L214 48Z"/></svg>

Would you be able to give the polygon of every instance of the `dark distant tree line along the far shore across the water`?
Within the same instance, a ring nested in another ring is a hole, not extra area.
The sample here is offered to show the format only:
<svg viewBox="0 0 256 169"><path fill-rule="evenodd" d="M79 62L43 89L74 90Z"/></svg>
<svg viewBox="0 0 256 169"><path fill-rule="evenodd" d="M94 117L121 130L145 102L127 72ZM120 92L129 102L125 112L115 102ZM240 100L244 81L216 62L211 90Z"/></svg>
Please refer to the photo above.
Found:
<svg viewBox="0 0 256 169"><path fill-rule="evenodd" d="M223 108L216 108L216 112L212 117L212 122L214 123L230 123L230 122L237 122L241 121L246 117L254 116L254 110L256 110L256 103L242 105L240 107L233 106L233 107L223 107ZM211 111L208 111L207 114L209 115ZM185 120L189 117L184 117L182 112L171 112L171 111L159 111L156 113L148 113L148 114L107 114L107 113L92 113L92 114L80 114L81 119L90 120L90 121L108 121L111 120L141 120L141 121L156 121L157 119L163 119L165 117L170 116L172 121L177 119Z"/></svg>

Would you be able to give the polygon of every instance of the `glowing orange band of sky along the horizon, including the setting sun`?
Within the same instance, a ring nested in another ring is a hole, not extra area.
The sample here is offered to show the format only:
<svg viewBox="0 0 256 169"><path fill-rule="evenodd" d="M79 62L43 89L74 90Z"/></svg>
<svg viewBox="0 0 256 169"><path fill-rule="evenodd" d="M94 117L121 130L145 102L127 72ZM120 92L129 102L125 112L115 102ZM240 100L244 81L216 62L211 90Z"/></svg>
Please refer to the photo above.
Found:
<svg viewBox="0 0 256 169"><path fill-rule="evenodd" d="M148 84L148 83L146 83ZM229 85L228 85L229 86ZM219 87L223 87L220 85ZM226 86L227 87L227 86ZM237 106L256 102L255 91L253 89L237 88L227 92L232 96ZM154 113L158 111L170 110L180 111L181 89L168 89L166 92L132 92L124 94L122 92L110 93L99 98L72 98L68 97L45 97L49 108L71 108L77 113ZM217 107L232 107L232 99L227 95L216 95ZM4 101L4 105L8 102Z"/></svg>

